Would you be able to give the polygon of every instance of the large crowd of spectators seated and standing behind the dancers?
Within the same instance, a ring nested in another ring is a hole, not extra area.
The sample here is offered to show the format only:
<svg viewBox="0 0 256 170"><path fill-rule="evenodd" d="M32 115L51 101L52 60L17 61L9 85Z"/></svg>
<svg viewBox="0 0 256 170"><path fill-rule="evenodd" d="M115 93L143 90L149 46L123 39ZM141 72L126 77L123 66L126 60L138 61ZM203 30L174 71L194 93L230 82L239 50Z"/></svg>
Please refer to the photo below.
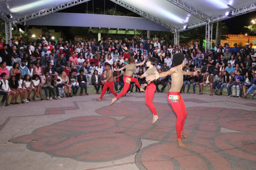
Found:
<svg viewBox="0 0 256 170"><path fill-rule="evenodd" d="M224 47L213 43L211 49L203 50L198 40L191 46L186 44L167 47L165 39L160 40L157 35L153 39L134 36L132 39L101 38L99 41L74 38L71 43L61 38L55 41L51 37L39 35L37 40L29 44L24 44L20 37L9 39L4 44L4 40L0 38L0 95L3 96L0 106L4 106L4 101L9 106L10 95L10 104L19 104L18 96L22 103L35 101L35 98L44 101L42 90L45 91L46 100L77 96L79 88L80 96L83 90L89 95L87 86L90 84L99 94L100 86L103 88L106 80L105 63L111 64L115 90L120 92L124 86L125 70L119 72L117 69L128 64L129 56L134 58L135 63L141 63L149 57L157 58L154 67L160 73L174 67L172 58L175 53L184 54L184 70L197 71L194 76L184 75L181 92L185 92L187 84L189 93L190 84L193 84L193 94L198 85L199 95L204 86L210 86L210 95L213 95L213 90L215 95L222 95L223 88L226 87L228 96L241 98L243 92L243 98L250 93L253 99L253 90L256 89L256 53L252 44L247 43L244 49L240 49L236 43L234 48L227 43ZM133 77L144 88L146 81L141 75L145 71L146 64L135 68L133 73ZM120 74L122 75L118 76ZM166 86L171 88L171 76L160 78L155 84L157 92L163 92ZM158 88L159 84L162 85L161 89ZM133 87L134 84L131 83L128 93L133 92ZM135 92L140 92L137 86L135 89Z"/></svg>

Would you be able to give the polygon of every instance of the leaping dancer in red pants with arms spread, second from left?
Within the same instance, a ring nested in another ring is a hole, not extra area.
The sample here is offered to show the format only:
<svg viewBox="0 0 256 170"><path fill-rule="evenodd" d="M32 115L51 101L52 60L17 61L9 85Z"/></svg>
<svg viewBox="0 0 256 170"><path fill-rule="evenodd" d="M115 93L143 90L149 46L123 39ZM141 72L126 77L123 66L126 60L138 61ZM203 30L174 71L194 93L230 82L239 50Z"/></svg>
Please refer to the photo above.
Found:
<svg viewBox="0 0 256 170"><path fill-rule="evenodd" d="M129 62L129 64L127 64L126 66L115 70L115 71L121 71L123 69L126 69L126 73L125 73L125 77L124 77L124 84L125 85L124 85L123 91L121 91L114 99L112 99L110 105L113 104L118 98L120 98L121 96L123 96L127 93L128 89L130 87L130 82L134 82L140 88L141 91L145 91L143 88L141 88L141 86L138 82L138 79L135 79L135 78L131 77L132 74L133 74L134 68L136 66L143 65L145 63L145 60L142 63L133 64L134 63L134 58L129 56L128 62Z"/></svg>

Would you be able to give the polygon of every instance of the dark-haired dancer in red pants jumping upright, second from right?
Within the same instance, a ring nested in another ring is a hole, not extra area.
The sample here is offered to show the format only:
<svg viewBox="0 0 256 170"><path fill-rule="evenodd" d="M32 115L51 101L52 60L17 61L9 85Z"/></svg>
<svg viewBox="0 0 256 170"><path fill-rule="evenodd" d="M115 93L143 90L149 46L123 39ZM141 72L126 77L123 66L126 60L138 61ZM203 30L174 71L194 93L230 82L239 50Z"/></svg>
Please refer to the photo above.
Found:
<svg viewBox="0 0 256 170"><path fill-rule="evenodd" d="M153 67L155 65L155 63L157 62L156 58L149 58L147 60L147 67L149 67L147 69L147 71L142 75L142 78L147 77L147 76L151 76L151 75L155 75L158 74L157 70L155 67ZM153 120L152 123L155 123L158 120L158 116L157 116L157 112L156 112L156 108L153 104L153 98L155 95L155 91L156 91L156 85L154 82L152 83L147 83L147 88L145 91L145 103L146 105L150 108L150 111L153 113Z"/></svg>

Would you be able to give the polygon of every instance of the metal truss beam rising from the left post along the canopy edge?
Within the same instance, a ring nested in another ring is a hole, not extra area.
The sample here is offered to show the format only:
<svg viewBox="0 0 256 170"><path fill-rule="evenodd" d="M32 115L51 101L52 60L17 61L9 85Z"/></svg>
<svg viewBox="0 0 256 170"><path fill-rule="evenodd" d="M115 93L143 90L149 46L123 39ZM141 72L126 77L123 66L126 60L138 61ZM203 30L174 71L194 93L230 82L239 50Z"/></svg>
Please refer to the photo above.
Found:
<svg viewBox="0 0 256 170"><path fill-rule="evenodd" d="M88 1L90 1L90 0L74 0L74 1L71 1L71 2L67 2L67 3L61 4L61 5L57 5L57 6L54 6L54 7L51 7L51 8L47 8L45 10L41 10L41 11L38 11L38 12L35 12L35 13L32 13L32 14L26 15L24 17L14 19L13 23L16 24L16 23L25 22L25 21L28 21L28 20L31 20L31 19L34 19L34 18L37 18L37 17L41 17L41 16L44 16L44 15L47 15L47 14L51 14L51 13L63 10L65 8L75 6L75 5L78 5L78 4L81 4L81 3L84 3L84 2L88 2Z"/></svg>

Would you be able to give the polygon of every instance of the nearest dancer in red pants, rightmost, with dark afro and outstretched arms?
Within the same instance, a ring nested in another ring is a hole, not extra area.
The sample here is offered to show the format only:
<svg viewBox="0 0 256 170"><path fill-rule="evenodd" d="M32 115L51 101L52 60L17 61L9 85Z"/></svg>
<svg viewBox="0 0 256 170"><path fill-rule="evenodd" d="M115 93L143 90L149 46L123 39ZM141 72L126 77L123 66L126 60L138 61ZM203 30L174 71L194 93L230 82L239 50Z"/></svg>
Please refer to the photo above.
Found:
<svg viewBox="0 0 256 170"><path fill-rule="evenodd" d="M155 74L146 78L147 82L151 82L160 77L166 77L171 74L172 84L171 89L168 94L168 101L170 102L173 111L177 115L176 121L176 133L177 133L177 143L181 148L187 148L181 140L181 136L188 138L183 131L183 126L187 116L186 107L184 101L180 95L180 90L183 85L183 74L184 75L195 75L196 72L186 72L182 69L185 67L184 55L182 53L177 53L173 55L173 64L176 67L172 67L170 70L162 72L160 74Z"/></svg>

